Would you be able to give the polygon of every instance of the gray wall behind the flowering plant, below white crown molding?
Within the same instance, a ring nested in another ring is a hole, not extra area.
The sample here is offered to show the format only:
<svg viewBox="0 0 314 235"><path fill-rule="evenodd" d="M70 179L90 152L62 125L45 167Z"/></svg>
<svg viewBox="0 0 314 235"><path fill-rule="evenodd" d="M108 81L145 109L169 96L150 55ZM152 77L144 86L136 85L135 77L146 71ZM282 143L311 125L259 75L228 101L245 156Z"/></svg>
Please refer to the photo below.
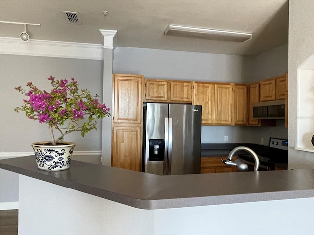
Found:
<svg viewBox="0 0 314 235"><path fill-rule="evenodd" d="M47 80L50 75L59 80L74 77L81 89L87 88L92 94L99 94L99 100L102 100L103 61L7 54L0 54L0 60L1 152L32 151L31 143L51 140L46 124L39 124L28 119L25 113L13 110L22 105L25 98L14 87L26 89L25 84L33 82L39 89L50 90ZM101 121L98 130L101 130ZM76 142L76 151L101 151L101 134L101 131L92 130L83 138L78 132L71 133L65 136L64 141Z"/></svg>

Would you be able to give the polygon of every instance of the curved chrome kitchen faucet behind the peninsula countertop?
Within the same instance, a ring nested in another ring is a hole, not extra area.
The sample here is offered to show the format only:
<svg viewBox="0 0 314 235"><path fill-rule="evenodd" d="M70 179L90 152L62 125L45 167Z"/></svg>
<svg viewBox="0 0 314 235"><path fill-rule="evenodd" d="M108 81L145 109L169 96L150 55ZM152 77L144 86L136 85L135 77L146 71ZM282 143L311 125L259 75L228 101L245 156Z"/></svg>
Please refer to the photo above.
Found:
<svg viewBox="0 0 314 235"><path fill-rule="evenodd" d="M239 151L239 150L245 150L247 152L249 152L255 161L255 165L254 165L254 171L258 171L259 166L260 166L260 160L259 157L256 155L256 153L248 148L248 147L244 147L244 146L239 146L234 148L233 150L231 150L231 152L228 155L227 160L223 160L221 159L221 161L229 166L235 166L239 171L248 171L248 166L247 164L245 164L243 161L241 161L240 159L236 159L234 162L232 162L232 157L235 155L235 152Z"/></svg>

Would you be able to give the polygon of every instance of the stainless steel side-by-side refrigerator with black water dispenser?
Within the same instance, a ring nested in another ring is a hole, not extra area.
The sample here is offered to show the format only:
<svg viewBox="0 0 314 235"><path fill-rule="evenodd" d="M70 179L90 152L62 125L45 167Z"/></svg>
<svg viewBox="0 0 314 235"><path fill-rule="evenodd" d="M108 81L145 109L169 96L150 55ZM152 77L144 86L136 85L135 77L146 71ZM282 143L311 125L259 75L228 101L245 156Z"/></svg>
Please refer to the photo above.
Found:
<svg viewBox="0 0 314 235"><path fill-rule="evenodd" d="M202 106L144 103L143 172L200 173Z"/></svg>

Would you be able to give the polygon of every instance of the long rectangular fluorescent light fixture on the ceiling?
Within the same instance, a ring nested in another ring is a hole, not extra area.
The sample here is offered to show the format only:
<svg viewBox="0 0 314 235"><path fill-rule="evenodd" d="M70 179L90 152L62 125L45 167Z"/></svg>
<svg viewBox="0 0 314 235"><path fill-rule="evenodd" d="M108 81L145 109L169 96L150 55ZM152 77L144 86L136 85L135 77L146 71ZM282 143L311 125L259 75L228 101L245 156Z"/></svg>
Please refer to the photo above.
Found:
<svg viewBox="0 0 314 235"><path fill-rule="evenodd" d="M166 28L165 35L198 37L206 38L209 40L233 41L242 43L252 39L252 33L242 33L207 28L194 28L171 24Z"/></svg>

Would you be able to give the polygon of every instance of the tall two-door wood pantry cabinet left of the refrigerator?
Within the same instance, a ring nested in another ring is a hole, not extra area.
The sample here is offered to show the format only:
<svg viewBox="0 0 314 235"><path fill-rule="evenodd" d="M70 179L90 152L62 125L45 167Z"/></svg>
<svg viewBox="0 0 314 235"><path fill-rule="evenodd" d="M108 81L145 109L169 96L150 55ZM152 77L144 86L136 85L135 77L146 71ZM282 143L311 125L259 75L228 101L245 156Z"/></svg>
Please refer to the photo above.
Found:
<svg viewBox="0 0 314 235"><path fill-rule="evenodd" d="M141 171L143 75L113 74L111 166Z"/></svg>

